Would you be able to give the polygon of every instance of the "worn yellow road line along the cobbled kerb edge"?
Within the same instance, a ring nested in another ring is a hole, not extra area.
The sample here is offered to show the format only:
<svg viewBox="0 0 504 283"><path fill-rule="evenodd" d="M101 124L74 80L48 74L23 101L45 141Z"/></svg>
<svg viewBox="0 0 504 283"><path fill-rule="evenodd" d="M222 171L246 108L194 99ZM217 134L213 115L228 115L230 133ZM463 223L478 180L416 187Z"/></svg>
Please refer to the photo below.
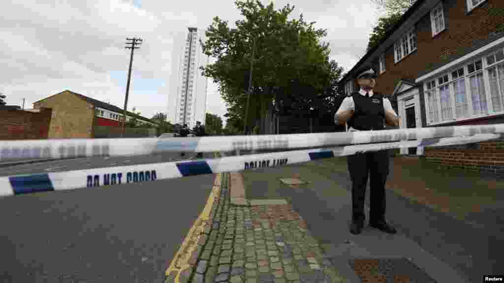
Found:
<svg viewBox="0 0 504 283"><path fill-rule="evenodd" d="M207 203L205 204L205 208L203 208L202 213L189 230L189 233L187 233L187 236L180 245L180 248L171 260L168 269L166 269L166 276L170 275L172 272L176 273L176 283L180 282L180 274L187 268L193 266L193 264L191 264L189 260L191 259L191 255L194 250L198 247L198 241L202 235L203 230L205 230L206 225L210 225L208 221L210 218L210 213L212 211L212 206L215 200L220 196L220 184L221 173L218 173L217 177L214 180L212 192L208 196Z"/></svg>

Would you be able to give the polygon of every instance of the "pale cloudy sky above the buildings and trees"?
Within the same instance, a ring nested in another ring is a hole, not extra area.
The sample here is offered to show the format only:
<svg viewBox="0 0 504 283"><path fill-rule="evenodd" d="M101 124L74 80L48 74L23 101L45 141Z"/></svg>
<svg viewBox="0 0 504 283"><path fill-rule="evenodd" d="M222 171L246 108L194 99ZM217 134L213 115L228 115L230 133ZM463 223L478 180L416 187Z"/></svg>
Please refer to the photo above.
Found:
<svg viewBox="0 0 504 283"><path fill-rule="evenodd" d="M0 18L0 92L8 105L25 99L25 108L32 108L69 89L122 108L130 57L125 38L136 36L144 41L135 50L128 108L149 118L168 109L173 35L189 26L206 29L215 16L231 26L242 18L234 0L9 1ZM345 71L364 54L380 16L370 0L277 0L275 8L287 3L295 5L292 17L302 13L327 29L331 56ZM207 112L226 113L212 83Z"/></svg>

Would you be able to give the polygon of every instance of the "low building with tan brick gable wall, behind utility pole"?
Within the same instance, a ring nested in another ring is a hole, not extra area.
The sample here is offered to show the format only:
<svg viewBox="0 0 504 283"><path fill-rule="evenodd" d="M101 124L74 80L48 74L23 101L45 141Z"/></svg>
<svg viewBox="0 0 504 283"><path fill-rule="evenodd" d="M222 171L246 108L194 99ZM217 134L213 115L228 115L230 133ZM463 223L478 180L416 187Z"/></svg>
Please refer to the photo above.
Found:
<svg viewBox="0 0 504 283"><path fill-rule="evenodd" d="M48 138L92 138L97 137L98 127L118 131L122 125L123 111L119 107L69 90L36 101L33 106L52 109ZM127 121L131 118L156 125L146 117L127 111Z"/></svg>

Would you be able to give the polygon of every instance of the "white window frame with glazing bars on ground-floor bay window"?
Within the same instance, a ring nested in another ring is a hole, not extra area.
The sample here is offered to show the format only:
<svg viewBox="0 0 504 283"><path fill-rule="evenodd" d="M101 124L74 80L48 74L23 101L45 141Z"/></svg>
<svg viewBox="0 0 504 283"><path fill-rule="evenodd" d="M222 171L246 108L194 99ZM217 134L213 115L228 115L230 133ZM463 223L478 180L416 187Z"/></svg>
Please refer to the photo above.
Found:
<svg viewBox="0 0 504 283"><path fill-rule="evenodd" d="M428 126L446 124L446 123L451 123L454 121L457 121L457 122L466 121L466 120L471 120L471 119L475 119L475 118L482 118L482 117L489 117L489 116L504 114L504 101L502 101L504 99L501 100L501 102L503 103L501 105L501 111L494 111L493 110L493 103L492 103L491 92L490 92L490 77L489 77L489 69L494 68L497 65L504 64L504 59L500 60L500 61L493 62L490 65L487 63L487 60L486 60L486 58L488 56L491 56L492 54L495 54L500 50L504 50L504 48L500 47L499 49L493 50L492 52L480 54L472 60L464 61L461 64L458 64L457 66L454 66L454 67L448 69L449 82L450 82L450 100L452 101L452 105L453 105L453 108L452 108L453 109L452 114L454 117L453 120L442 121L441 104L440 104L440 96L439 96L439 89L438 89L439 88L438 78L446 75L446 73L443 73L443 75L438 75L436 77L431 77L431 78L424 81L424 83L423 83L423 85L424 85L424 87L423 87L423 89L424 89L424 102L425 102L425 106L426 106L425 107L425 117L426 117L426 124ZM471 63L475 63L478 60L481 60L481 62L482 62L481 69L469 74L468 65L470 65ZM463 116L461 118L457 118L457 112L456 112L457 110L455 107L456 106L455 105L455 89L453 87L453 82L458 81L460 79L457 78L456 80L452 80L453 79L452 73L455 72L456 70L461 69L461 68L464 69L464 76L463 77L465 80L465 87L466 87L466 99L467 99L467 103L468 103L468 109L467 109L468 116L467 117ZM486 107L488 109L487 113L484 113L484 114L475 114L473 111L473 101L472 101L472 93L471 93L471 86L470 86L470 79L469 78L475 74L478 74L478 73L483 74L483 85L484 85L485 96L486 96ZM436 83L435 89L436 89L436 98L437 98L437 102L438 102L437 103L437 111L438 111L438 121L437 122L430 122L430 116L429 116L430 105L428 104L428 99L427 99L427 82L431 82L432 80L435 80L435 83ZM500 88L500 85L498 87ZM500 92L502 92L502 91L503 90L500 90Z"/></svg>

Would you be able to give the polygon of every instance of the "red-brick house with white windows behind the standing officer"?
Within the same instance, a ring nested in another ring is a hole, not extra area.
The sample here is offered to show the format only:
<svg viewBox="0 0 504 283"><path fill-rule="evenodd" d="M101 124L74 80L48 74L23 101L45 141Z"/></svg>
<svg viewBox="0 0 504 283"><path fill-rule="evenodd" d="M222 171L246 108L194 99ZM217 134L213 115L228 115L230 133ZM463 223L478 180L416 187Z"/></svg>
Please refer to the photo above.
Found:
<svg viewBox="0 0 504 283"><path fill-rule="evenodd" d="M389 96L400 128L504 123L504 1L417 0L363 64L379 71L376 92ZM444 148L402 149L443 167L504 172L504 139Z"/></svg>

